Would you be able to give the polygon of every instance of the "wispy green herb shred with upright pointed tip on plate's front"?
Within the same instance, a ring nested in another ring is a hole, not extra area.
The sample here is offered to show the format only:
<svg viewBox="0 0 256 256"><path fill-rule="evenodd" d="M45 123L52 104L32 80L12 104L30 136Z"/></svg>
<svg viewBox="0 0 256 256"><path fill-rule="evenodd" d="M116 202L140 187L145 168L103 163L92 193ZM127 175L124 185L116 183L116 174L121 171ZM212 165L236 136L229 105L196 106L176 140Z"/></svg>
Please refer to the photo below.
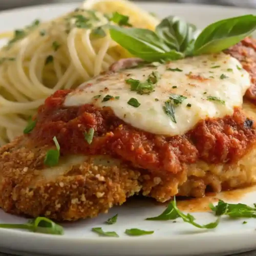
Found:
<svg viewBox="0 0 256 256"><path fill-rule="evenodd" d="M177 218L181 218L184 222L188 222L189 224L198 227L198 228L216 228L220 222L220 218L218 218L215 222L208 223L206 225L200 225L195 222L195 217L190 214L183 214L183 212L178 209L176 205L176 199L174 198L174 201L170 202L167 206L167 208L163 211L163 213L157 217L153 218L147 218L146 220L150 221L163 221L163 220L175 220Z"/></svg>

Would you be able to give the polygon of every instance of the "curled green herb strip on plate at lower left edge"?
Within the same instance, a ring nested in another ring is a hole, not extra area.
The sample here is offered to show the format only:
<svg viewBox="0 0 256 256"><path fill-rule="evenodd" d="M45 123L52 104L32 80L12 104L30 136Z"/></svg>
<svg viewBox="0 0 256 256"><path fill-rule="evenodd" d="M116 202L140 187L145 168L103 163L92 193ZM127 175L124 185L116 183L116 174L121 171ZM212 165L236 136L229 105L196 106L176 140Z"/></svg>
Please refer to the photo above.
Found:
<svg viewBox="0 0 256 256"><path fill-rule="evenodd" d="M46 217L37 217L24 224L0 224L0 228L22 228L36 233L63 234L63 227Z"/></svg>

